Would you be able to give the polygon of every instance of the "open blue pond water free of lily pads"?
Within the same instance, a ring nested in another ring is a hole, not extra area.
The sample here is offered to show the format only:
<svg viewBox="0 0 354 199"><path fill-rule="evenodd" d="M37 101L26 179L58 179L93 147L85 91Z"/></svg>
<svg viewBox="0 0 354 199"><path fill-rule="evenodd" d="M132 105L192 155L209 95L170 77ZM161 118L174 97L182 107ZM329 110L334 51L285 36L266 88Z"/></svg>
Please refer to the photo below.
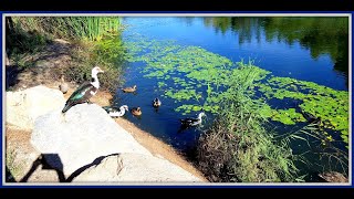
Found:
<svg viewBox="0 0 354 199"><path fill-rule="evenodd" d="M254 65L272 72L274 76L348 91L346 18L126 17L123 23L127 25L123 41L131 41L134 35L148 41L173 40L178 45L199 46L232 62L254 60ZM200 132L214 116L207 114L204 126L181 132L178 119L196 117L197 112L185 115L176 112L175 108L185 102L163 96L164 91L157 86L159 80L142 73L145 65L142 61L127 63L125 86L137 85L137 92L117 91L116 104L142 107L140 117L132 114L124 117L173 147L187 154L192 151ZM170 82L167 84L178 86ZM163 102L158 109L152 107L155 97Z"/></svg>

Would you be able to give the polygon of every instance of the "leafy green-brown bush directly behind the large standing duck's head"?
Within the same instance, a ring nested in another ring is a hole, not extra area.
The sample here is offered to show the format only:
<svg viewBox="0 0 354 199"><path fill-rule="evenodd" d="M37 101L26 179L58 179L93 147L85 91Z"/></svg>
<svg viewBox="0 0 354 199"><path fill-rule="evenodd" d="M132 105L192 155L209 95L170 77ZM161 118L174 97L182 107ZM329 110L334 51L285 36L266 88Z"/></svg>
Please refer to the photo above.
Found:
<svg viewBox="0 0 354 199"><path fill-rule="evenodd" d="M98 76L102 90L115 93L116 88L123 84L125 48L121 41L119 34L114 34L100 42L79 44L72 53L76 64L65 70L66 78L77 83L90 81L92 67L98 65L104 71Z"/></svg>

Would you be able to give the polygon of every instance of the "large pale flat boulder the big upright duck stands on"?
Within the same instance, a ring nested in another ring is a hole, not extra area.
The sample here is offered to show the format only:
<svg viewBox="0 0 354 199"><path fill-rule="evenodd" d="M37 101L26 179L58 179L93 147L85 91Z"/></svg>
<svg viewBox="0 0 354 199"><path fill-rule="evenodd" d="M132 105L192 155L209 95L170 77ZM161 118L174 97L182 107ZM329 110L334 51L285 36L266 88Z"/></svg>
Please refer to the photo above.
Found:
<svg viewBox="0 0 354 199"><path fill-rule="evenodd" d="M96 104L79 104L38 117L31 144L67 178L101 156L133 153L153 156Z"/></svg>

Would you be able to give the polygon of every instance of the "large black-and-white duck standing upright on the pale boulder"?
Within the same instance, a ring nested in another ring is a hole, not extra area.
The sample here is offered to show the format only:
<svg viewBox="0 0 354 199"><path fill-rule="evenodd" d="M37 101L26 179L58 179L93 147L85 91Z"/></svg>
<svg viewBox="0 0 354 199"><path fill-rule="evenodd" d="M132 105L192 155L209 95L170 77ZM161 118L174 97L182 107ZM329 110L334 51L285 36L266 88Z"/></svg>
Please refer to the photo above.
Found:
<svg viewBox="0 0 354 199"><path fill-rule="evenodd" d="M67 112L72 106L82 103L88 103L90 98L94 96L100 88L98 73L104 73L100 66L95 66L91 71L91 82L84 82L76 91L67 98L62 113Z"/></svg>

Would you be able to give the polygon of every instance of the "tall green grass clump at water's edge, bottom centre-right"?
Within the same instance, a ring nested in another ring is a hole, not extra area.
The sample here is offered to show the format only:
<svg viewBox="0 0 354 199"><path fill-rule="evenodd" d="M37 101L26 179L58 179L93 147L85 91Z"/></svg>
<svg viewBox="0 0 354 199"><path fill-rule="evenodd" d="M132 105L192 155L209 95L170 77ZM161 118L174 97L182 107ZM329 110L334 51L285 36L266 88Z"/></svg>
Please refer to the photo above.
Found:
<svg viewBox="0 0 354 199"><path fill-rule="evenodd" d="M298 168L285 143L275 143L263 127L259 109L264 105L252 100L247 90L259 76L235 73L212 127L198 144L199 168L210 181L280 182L295 181Z"/></svg>

